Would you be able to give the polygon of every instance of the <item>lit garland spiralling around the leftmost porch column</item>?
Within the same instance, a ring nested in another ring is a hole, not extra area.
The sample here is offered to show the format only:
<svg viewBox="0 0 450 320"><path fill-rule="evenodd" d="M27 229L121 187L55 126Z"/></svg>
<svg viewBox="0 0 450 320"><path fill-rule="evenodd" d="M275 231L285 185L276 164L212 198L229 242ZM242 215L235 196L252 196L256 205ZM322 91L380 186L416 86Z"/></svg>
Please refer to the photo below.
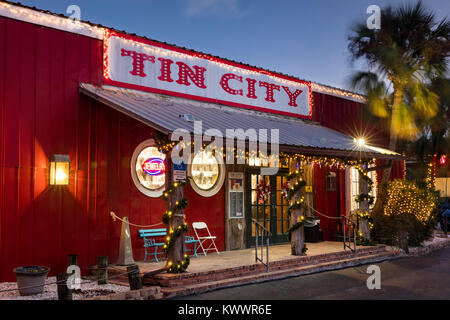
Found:
<svg viewBox="0 0 450 320"><path fill-rule="evenodd" d="M164 190L161 198L168 202L169 196L176 191L179 187L184 187L188 184L188 180L184 181L177 181L172 183L170 186L167 187L166 190ZM181 199L180 201L175 202L175 205L172 206L170 209L168 209L163 217L162 221L167 227L169 227L169 221L172 218L174 214L179 212L180 210L186 208L188 205L188 201L186 198ZM168 236L166 237L166 242L163 246L163 251L167 254L169 250L173 247L175 241L179 236L181 236L183 233L186 233L189 231L189 226L185 222L183 225L178 226L176 230L170 230ZM186 271L187 267L189 266L190 258L187 254L184 255L184 259L177 262L168 261L167 262L167 272L168 273L180 273Z"/></svg>

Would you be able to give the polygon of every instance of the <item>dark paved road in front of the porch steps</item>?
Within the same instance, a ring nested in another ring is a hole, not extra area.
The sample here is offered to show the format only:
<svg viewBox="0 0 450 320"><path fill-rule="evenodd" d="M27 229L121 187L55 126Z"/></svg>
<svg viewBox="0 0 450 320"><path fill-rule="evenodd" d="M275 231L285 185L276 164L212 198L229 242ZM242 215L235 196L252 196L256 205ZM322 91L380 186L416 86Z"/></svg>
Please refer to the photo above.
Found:
<svg viewBox="0 0 450 320"><path fill-rule="evenodd" d="M222 289L187 300L450 299L450 248L378 264L381 289L366 286L366 266Z"/></svg>

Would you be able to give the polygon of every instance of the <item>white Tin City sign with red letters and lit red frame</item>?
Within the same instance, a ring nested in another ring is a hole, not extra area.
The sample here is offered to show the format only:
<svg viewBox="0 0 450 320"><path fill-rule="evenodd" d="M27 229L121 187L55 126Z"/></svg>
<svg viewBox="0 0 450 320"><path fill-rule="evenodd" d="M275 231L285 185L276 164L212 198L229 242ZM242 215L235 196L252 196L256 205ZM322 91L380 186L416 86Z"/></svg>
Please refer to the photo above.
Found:
<svg viewBox="0 0 450 320"><path fill-rule="evenodd" d="M106 30L104 82L300 118L311 118L311 83Z"/></svg>

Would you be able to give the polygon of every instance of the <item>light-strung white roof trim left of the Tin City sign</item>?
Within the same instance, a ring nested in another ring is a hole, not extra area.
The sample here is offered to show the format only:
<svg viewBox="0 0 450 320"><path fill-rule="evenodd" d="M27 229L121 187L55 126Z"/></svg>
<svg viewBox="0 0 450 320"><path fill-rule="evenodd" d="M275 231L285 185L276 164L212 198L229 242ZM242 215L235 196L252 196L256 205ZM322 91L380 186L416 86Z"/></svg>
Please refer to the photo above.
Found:
<svg viewBox="0 0 450 320"><path fill-rule="evenodd" d="M103 40L103 28L9 3L0 2L0 16Z"/></svg>

